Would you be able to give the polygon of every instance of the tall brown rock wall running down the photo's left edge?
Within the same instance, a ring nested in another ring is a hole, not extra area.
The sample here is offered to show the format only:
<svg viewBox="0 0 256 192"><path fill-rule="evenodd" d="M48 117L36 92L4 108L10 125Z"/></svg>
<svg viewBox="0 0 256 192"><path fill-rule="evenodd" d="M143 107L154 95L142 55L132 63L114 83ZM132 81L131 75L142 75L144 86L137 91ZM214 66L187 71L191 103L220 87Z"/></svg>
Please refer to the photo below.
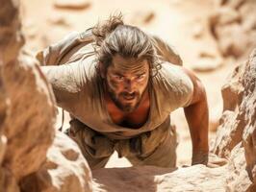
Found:
<svg viewBox="0 0 256 192"><path fill-rule="evenodd" d="M5 116L0 111L1 118L5 117L1 132L8 139L3 165L18 182L23 176L37 171L46 158L54 135L55 102L37 62L19 54L24 39L20 32L18 2L3 0L1 5L0 91L3 95L4 87L4 101L9 101Z"/></svg>

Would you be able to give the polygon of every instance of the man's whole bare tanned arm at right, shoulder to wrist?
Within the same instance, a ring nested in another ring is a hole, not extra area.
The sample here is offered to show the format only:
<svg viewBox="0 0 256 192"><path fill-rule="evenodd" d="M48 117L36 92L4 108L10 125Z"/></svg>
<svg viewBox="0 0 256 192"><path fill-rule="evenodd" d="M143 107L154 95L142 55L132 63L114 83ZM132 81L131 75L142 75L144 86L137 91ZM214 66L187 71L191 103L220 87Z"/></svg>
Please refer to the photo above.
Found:
<svg viewBox="0 0 256 192"><path fill-rule="evenodd" d="M184 69L193 84L192 101L184 108L192 137L192 165L208 163L209 111L203 84L191 71Z"/></svg>

